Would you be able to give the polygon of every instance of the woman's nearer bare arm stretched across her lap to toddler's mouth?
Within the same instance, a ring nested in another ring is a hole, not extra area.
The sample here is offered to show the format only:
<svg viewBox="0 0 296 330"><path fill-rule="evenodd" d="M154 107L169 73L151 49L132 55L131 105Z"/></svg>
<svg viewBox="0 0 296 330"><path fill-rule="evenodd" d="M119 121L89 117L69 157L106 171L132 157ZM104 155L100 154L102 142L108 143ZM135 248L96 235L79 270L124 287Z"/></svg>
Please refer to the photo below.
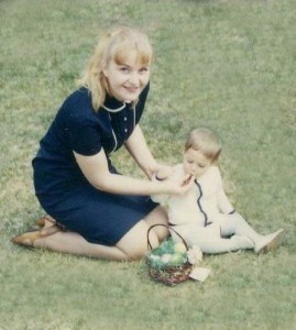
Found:
<svg viewBox="0 0 296 330"><path fill-rule="evenodd" d="M153 195L171 194L183 195L191 186L193 182L179 185L173 182L150 182L136 179L109 172L107 157L101 150L92 156L84 156L74 152L75 158L88 182L97 189L127 195Z"/></svg>

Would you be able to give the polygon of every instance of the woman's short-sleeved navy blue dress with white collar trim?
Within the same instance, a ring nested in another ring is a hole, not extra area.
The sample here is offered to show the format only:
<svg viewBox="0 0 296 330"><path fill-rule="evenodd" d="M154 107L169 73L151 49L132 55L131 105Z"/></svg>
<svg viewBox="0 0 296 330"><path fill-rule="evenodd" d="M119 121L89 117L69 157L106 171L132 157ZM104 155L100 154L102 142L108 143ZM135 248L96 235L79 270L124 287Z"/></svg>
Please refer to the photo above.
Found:
<svg viewBox="0 0 296 330"><path fill-rule="evenodd" d="M107 97L95 111L90 92L80 88L58 110L33 160L34 187L43 209L87 241L114 245L157 204L149 196L127 196L94 188L73 151L95 155L105 150L109 170L118 173L110 154L129 139L144 110L149 86L135 107Z"/></svg>

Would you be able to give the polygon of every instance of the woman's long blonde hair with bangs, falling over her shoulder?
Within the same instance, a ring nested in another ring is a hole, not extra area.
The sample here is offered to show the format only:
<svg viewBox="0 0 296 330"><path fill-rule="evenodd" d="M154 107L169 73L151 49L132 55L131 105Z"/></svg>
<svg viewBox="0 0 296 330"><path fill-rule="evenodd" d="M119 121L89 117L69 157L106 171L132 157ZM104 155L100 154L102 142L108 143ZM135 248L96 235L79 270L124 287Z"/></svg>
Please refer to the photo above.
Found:
<svg viewBox="0 0 296 330"><path fill-rule="evenodd" d="M102 72L102 63L108 65L114 61L119 65L123 64L131 52L136 52L136 62L141 65L152 62L153 51L147 36L131 28L112 30L97 44L83 77L77 81L78 86L90 91L91 105L96 111L103 105L106 95L111 95L108 79Z"/></svg>

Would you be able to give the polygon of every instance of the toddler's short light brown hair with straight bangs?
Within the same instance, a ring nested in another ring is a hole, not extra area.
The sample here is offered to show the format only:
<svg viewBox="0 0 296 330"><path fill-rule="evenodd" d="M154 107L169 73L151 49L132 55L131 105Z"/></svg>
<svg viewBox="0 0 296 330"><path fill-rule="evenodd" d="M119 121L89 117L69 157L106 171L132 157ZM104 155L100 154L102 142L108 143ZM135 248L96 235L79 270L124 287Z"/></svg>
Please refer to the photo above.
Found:
<svg viewBox="0 0 296 330"><path fill-rule="evenodd" d="M215 162L218 160L222 146L220 139L211 130L200 128L189 133L185 142L185 151L189 148L201 152L205 157Z"/></svg>

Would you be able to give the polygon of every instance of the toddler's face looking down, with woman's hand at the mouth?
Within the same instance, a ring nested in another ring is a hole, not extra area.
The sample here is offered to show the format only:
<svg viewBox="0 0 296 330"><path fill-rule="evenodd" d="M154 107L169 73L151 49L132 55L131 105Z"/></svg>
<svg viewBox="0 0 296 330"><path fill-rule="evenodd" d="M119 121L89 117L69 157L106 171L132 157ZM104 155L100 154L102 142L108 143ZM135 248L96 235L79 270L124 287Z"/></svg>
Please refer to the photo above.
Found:
<svg viewBox="0 0 296 330"><path fill-rule="evenodd" d="M200 151L188 148L184 153L183 164L186 174L198 178L211 166L212 162L205 157Z"/></svg>

